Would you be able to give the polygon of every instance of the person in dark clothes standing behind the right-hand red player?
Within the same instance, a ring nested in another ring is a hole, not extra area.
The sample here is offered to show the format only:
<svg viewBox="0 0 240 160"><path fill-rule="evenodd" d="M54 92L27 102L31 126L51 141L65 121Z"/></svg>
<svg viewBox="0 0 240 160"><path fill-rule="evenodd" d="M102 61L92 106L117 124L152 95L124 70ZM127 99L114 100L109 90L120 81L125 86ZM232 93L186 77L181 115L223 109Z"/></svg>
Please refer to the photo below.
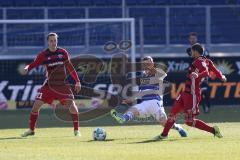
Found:
<svg viewBox="0 0 240 160"><path fill-rule="evenodd" d="M188 40L191 46L198 43L197 33L196 32L189 33ZM188 56L190 57L191 57L191 46L186 50ZM204 49L203 56L210 58L210 55L207 49ZM203 111L204 113L209 113L211 104L210 104L210 87L208 85L208 77L205 78L204 81L202 82L201 90L202 90L201 105L203 107Z"/></svg>

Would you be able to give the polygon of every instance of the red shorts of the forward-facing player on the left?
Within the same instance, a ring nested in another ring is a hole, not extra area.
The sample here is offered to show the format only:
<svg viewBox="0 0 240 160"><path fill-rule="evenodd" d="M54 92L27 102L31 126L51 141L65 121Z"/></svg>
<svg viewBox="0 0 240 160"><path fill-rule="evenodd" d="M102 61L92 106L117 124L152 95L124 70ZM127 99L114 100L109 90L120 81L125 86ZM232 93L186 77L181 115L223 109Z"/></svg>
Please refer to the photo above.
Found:
<svg viewBox="0 0 240 160"><path fill-rule="evenodd" d="M38 90L36 100L41 100L44 103L52 104L54 100L59 100L64 103L65 100L74 99L73 93L69 86L61 86L58 88L50 88L47 84Z"/></svg>

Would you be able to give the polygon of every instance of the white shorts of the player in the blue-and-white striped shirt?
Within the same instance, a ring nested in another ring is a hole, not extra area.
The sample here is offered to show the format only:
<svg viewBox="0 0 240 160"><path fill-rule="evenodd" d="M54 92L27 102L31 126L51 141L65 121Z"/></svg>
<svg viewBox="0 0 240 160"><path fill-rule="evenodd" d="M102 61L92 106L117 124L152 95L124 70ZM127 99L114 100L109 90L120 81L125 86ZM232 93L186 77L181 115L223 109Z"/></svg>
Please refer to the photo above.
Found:
<svg viewBox="0 0 240 160"><path fill-rule="evenodd" d="M153 116L157 121L167 120L167 115L163 108L163 101L147 100L133 106L139 112L140 118Z"/></svg>

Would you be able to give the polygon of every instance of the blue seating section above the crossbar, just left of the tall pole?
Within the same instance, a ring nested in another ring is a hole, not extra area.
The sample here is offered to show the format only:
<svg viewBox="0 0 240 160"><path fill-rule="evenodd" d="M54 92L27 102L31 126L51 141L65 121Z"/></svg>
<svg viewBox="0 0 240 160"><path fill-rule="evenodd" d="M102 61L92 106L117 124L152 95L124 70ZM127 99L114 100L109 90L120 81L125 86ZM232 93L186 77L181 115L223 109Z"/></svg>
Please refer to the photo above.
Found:
<svg viewBox="0 0 240 160"><path fill-rule="evenodd" d="M121 18L121 8L90 8L90 18Z"/></svg>

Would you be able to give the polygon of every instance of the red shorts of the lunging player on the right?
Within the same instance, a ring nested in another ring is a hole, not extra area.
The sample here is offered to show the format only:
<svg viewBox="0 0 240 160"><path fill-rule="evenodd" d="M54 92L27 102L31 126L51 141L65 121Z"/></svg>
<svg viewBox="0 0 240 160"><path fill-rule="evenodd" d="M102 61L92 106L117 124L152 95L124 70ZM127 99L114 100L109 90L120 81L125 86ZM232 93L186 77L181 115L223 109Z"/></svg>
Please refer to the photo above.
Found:
<svg viewBox="0 0 240 160"><path fill-rule="evenodd" d="M201 96L194 96L190 93L182 92L175 100L174 105L170 111L172 115L177 115L184 112L186 115L196 116L199 114L199 102Z"/></svg>

